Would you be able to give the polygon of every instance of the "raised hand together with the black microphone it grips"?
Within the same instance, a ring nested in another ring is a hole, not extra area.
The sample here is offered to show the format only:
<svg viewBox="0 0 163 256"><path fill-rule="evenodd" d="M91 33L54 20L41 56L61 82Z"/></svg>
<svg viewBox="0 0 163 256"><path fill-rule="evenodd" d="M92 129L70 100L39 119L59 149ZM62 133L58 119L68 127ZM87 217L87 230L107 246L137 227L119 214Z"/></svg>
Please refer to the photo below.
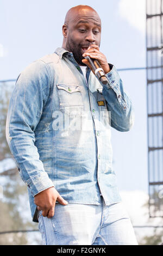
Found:
<svg viewBox="0 0 163 256"><path fill-rule="evenodd" d="M99 52L99 47L97 45L91 45L83 53L83 57L85 59L83 59L82 62L89 66L89 68L98 78L99 82L107 84L108 80L105 74L110 71L110 67L104 54Z"/></svg>

